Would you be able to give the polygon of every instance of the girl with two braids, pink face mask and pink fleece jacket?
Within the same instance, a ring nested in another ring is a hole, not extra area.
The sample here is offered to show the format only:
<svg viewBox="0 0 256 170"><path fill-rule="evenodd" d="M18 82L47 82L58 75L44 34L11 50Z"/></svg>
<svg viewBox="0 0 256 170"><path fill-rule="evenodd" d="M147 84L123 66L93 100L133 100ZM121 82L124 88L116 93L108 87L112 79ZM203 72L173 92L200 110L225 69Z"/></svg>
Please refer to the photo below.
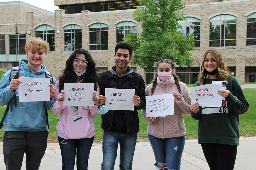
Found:
<svg viewBox="0 0 256 170"><path fill-rule="evenodd" d="M149 142L155 155L158 169L181 169L181 156L185 145L186 128L182 113L190 115L190 93L186 84L174 73L174 62L162 59L157 63L153 83L146 88L146 96L173 94L174 114L165 117L147 117L146 107L142 116L148 122Z"/></svg>

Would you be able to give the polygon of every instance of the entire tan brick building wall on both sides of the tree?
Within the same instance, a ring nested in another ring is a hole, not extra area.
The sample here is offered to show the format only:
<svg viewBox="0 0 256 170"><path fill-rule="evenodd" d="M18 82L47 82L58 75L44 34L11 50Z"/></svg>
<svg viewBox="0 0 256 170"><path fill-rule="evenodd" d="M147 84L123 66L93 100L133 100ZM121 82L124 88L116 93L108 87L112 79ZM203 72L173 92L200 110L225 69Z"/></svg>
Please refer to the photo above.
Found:
<svg viewBox="0 0 256 170"><path fill-rule="evenodd" d="M68 1L73 3L73 1ZM89 1L74 1L74 2L89 2ZM93 2L93 1L90 1ZM189 2L189 1L186 1ZM213 1L212 1L213 2ZM67 1L55 1L55 5L60 3L67 3ZM214 3L201 1L191 1L191 3L201 3L197 6L186 6L183 9L183 13L186 15L196 15L202 18L201 20L201 35L200 35L200 48L192 51L192 57L194 60L194 66L201 65L202 55L206 49L209 48L209 19L208 17L218 12L233 12L237 17L237 46L229 49L219 49L225 58L227 66L236 67L236 77L240 82L245 81L245 66L256 66L255 61L255 49L246 48L246 14L256 9L256 0L243 1L231 3ZM79 23L82 25L82 48L89 49L89 33L88 24L95 21L104 21L109 24L109 48L107 51L90 52L93 56L96 67L108 67L115 65L113 60L114 47L115 47L115 22L123 19L131 19L132 10L120 10L120 11L107 11L107 12L82 12L82 14L65 14L64 10L56 10L53 15L34 15L34 13L25 12L24 25L17 25L17 30L21 33L31 30L31 35L27 34L27 39L31 36L35 36L34 27L40 23L50 23L55 26L55 52L49 52L46 54L44 65L47 66L47 70L50 71L56 78L61 74L61 71L65 67L65 62L70 56L71 52L63 52L63 28L62 26L67 23ZM0 11L1 14L1 11ZM73 16L73 19L70 18ZM0 20L0 23L2 21ZM59 33L56 33L59 29ZM10 32L15 33L16 25L1 25L0 34L6 34L6 61L8 61L8 34ZM141 33L141 23L137 23L137 32ZM145 70L137 67L137 72L143 75L145 78Z"/></svg>

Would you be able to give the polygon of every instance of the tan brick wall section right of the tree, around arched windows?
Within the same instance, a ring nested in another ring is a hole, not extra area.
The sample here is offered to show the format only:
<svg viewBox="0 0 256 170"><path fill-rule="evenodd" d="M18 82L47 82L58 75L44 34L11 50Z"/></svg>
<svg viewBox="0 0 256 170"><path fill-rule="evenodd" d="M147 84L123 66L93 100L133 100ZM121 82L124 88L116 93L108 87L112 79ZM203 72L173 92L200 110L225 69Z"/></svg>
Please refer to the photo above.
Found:
<svg viewBox="0 0 256 170"><path fill-rule="evenodd" d="M219 49L227 66L236 67L236 77L240 82L245 81L245 66L256 66L255 48L246 48L246 14L256 9L256 1L243 1L221 4L201 2L200 6L188 6L182 10L184 14L196 15L202 18L200 49L192 51L196 59L193 66L200 66L203 53L209 48L209 19L208 17L218 12L232 12L237 17L236 47Z"/></svg>

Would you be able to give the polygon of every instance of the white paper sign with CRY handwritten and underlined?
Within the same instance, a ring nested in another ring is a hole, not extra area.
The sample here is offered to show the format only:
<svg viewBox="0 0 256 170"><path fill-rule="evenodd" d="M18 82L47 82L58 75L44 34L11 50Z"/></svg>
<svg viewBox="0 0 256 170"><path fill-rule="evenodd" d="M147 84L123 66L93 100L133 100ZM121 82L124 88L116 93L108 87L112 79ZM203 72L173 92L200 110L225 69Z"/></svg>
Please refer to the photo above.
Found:
<svg viewBox="0 0 256 170"><path fill-rule="evenodd" d="M94 83L64 83L65 106L93 106Z"/></svg>

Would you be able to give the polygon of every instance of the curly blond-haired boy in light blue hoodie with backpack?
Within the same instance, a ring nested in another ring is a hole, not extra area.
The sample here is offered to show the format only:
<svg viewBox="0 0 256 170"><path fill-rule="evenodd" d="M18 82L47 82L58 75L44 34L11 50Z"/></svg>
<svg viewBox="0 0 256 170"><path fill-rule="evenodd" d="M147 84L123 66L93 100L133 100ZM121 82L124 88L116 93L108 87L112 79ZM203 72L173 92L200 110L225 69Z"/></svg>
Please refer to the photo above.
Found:
<svg viewBox="0 0 256 170"><path fill-rule="evenodd" d="M46 66L42 65L49 50L49 44L41 38L32 37L25 45L27 60L19 61L18 77L46 77ZM21 80L10 78L8 70L0 82L0 105L7 105L3 117L5 134L3 155L6 169L21 169L24 152L26 169L38 169L47 147L48 125L47 110L54 101L56 88L50 86L50 101L20 102L17 89ZM10 80L11 79L11 80Z"/></svg>

